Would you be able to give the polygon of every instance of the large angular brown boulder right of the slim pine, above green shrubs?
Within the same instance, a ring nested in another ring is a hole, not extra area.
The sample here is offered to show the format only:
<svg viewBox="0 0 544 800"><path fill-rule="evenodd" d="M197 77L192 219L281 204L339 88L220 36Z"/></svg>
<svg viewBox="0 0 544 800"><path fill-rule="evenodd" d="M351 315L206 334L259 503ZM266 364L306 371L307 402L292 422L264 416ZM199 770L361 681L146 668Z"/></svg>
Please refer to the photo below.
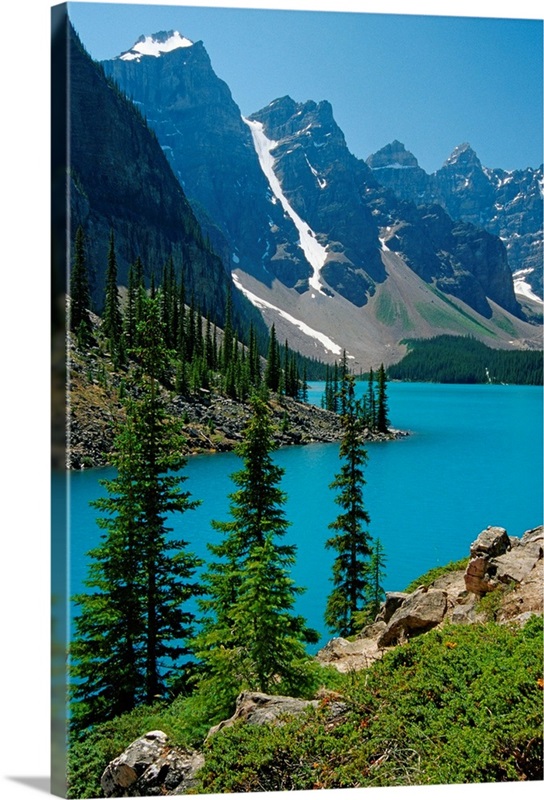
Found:
<svg viewBox="0 0 544 800"><path fill-rule="evenodd" d="M378 647L404 641L414 633L434 628L444 619L448 595L444 591L418 589L395 611L386 630L378 638Z"/></svg>

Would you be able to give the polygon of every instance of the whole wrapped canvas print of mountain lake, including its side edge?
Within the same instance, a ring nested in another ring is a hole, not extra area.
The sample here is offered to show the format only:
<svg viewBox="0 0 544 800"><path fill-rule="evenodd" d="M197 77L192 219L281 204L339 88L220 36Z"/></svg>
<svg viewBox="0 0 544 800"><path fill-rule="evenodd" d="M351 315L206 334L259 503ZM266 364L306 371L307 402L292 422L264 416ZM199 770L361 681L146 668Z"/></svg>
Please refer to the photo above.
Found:
<svg viewBox="0 0 544 800"><path fill-rule="evenodd" d="M52 8L52 787L542 779L542 20Z"/></svg>

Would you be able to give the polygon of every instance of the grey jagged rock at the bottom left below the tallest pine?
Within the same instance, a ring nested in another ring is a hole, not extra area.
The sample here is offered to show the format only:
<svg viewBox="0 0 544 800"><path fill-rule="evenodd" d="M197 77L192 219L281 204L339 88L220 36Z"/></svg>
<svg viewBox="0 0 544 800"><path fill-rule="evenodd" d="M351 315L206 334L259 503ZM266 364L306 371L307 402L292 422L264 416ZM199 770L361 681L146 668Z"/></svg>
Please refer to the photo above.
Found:
<svg viewBox="0 0 544 800"><path fill-rule="evenodd" d="M100 785L105 797L183 794L203 764L202 753L171 748L163 731L150 731L108 764Z"/></svg>

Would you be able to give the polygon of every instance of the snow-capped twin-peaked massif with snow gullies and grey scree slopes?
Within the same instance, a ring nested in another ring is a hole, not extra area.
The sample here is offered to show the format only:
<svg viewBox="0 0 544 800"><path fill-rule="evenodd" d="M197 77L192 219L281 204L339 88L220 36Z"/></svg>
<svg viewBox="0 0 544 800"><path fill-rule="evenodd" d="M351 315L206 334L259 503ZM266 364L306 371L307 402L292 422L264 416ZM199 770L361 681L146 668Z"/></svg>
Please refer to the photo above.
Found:
<svg viewBox="0 0 544 800"><path fill-rule="evenodd" d="M346 349L354 369L398 359L407 336L538 346L501 240L385 187L330 103L282 97L243 118L202 42L175 31L103 67L153 127L240 293L290 346L329 360Z"/></svg>

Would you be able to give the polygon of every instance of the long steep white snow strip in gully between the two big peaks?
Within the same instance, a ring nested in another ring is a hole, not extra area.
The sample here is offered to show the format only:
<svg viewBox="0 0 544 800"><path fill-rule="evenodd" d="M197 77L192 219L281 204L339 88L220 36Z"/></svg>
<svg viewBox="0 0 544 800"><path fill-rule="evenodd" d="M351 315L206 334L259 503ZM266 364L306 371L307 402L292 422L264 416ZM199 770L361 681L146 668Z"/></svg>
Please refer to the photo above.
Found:
<svg viewBox="0 0 544 800"><path fill-rule="evenodd" d="M261 169L268 179L268 183L270 184L272 192L280 201L285 213L291 217L296 229L298 230L300 237L299 244L304 252L307 262L313 269L313 275L311 275L309 279L310 286L312 289L322 292L323 285L319 279L319 275L327 259L327 250L317 241L316 235L309 227L308 223L299 217L282 191L281 184L276 177L276 173L274 172L275 159L272 155L272 150L277 147L278 142L268 139L264 133L264 126L262 122L246 119L245 117L242 117L242 119L251 131L253 144L259 158Z"/></svg>

